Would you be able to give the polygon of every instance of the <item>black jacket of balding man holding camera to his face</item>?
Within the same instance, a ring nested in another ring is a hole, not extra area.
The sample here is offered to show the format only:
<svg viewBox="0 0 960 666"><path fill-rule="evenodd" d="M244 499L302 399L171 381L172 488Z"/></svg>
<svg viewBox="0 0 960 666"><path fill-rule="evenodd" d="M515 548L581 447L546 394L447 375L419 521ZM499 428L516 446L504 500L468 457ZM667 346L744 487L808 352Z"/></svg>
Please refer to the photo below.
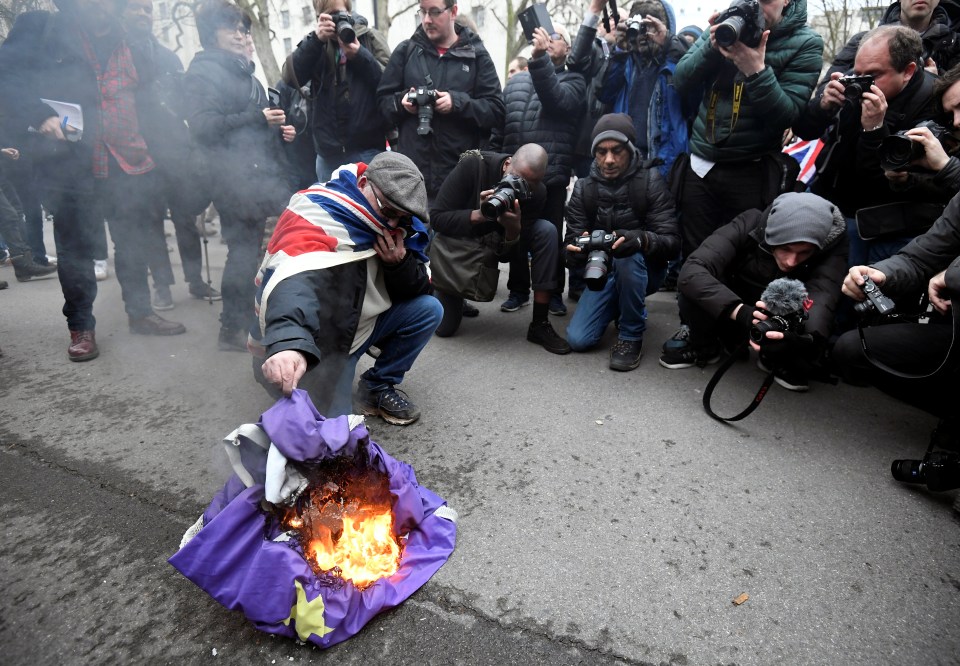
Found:
<svg viewBox="0 0 960 666"><path fill-rule="evenodd" d="M803 139L824 140L812 191L837 204L848 217L865 206L928 200L923 189L891 188L880 166L880 145L886 137L936 115L935 81L933 74L917 68L900 94L887 100L883 126L874 132L863 131L859 105L845 103L838 112L824 111L820 96L814 96L793 126Z"/></svg>

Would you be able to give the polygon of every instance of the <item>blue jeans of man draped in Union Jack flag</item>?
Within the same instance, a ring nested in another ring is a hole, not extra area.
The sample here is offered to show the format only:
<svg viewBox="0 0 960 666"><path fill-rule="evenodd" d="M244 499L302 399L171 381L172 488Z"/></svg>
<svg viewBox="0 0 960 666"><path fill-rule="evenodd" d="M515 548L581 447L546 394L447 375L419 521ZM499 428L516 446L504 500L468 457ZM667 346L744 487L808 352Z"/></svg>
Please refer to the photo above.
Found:
<svg viewBox="0 0 960 666"><path fill-rule="evenodd" d="M417 296L409 301L394 303L389 310L381 313L373 333L344 364L330 407L324 415L334 417L353 412L353 376L357 361L370 347L379 347L380 357L372 368L361 375L360 381L364 387L375 391L401 383L437 330L442 316L443 306L433 296Z"/></svg>

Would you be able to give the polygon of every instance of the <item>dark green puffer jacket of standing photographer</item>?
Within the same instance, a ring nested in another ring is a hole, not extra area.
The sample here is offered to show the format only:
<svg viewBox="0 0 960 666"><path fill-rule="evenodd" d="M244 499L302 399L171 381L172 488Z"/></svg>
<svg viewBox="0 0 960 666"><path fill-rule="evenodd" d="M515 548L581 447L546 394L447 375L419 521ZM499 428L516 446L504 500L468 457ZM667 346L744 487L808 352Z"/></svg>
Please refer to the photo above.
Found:
<svg viewBox="0 0 960 666"><path fill-rule="evenodd" d="M766 67L750 80L710 46L710 32L704 31L673 75L673 85L684 97L702 96L690 137L692 153L712 162L732 162L780 150L783 131L803 111L823 66L823 39L806 23L806 0L793 0L770 32ZM738 82L743 82L742 102L733 123ZM711 128L708 112L714 92L716 119Z"/></svg>

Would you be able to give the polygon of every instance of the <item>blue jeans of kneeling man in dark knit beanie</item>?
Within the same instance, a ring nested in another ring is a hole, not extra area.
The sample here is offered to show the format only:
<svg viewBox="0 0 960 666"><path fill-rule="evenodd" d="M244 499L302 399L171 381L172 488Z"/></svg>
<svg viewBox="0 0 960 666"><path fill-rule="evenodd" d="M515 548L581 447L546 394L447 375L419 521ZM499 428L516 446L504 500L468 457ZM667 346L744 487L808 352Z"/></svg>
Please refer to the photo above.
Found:
<svg viewBox="0 0 960 666"><path fill-rule="evenodd" d="M666 268L647 269L642 252L611 261L607 284L600 291L585 289L577 303L567 342L574 351L585 351L600 342L611 321L620 319L620 339L643 340L647 328L647 296L660 289Z"/></svg>

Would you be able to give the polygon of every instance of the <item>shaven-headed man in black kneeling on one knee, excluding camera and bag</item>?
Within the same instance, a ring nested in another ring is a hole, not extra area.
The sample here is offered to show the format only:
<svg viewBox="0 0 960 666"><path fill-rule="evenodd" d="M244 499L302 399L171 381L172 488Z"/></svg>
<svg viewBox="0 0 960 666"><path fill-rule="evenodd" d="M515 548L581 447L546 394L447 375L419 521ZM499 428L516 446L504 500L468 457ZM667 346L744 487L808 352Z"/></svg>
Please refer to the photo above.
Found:
<svg viewBox="0 0 960 666"><path fill-rule="evenodd" d="M437 236L483 237L497 239L500 261L510 261L520 247L532 254L533 320L527 340L541 345L552 354L567 354L570 347L557 335L548 321L550 294L557 286L556 266L559 262L557 230L540 214L546 200L543 178L547 153L535 143L520 146L512 156L504 153L470 151L443 182L430 209L432 228ZM505 177L519 177L528 196L516 195L509 210L495 219L484 215L485 202L496 193ZM443 321L437 335L448 337L457 332L463 316L463 298L436 290L443 304Z"/></svg>

